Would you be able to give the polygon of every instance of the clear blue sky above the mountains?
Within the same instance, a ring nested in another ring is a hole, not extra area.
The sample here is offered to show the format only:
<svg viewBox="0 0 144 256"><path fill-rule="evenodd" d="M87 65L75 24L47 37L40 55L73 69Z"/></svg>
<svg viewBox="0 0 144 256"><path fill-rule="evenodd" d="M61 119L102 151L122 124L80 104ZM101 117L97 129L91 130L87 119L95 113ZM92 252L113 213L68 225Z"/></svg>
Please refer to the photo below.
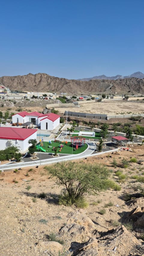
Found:
<svg viewBox="0 0 144 256"><path fill-rule="evenodd" d="M5 0L0 76L144 73L143 0Z"/></svg>

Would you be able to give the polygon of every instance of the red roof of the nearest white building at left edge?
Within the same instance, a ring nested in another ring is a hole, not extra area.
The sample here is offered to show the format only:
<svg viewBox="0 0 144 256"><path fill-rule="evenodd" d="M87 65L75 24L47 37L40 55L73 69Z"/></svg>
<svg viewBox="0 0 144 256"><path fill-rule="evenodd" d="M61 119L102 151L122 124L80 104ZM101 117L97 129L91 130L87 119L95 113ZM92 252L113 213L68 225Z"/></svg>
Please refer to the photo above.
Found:
<svg viewBox="0 0 144 256"><path fill-rule="evenodd" d="M37 129L0 127L0 139L25 140L35 132Z"/></svg>

